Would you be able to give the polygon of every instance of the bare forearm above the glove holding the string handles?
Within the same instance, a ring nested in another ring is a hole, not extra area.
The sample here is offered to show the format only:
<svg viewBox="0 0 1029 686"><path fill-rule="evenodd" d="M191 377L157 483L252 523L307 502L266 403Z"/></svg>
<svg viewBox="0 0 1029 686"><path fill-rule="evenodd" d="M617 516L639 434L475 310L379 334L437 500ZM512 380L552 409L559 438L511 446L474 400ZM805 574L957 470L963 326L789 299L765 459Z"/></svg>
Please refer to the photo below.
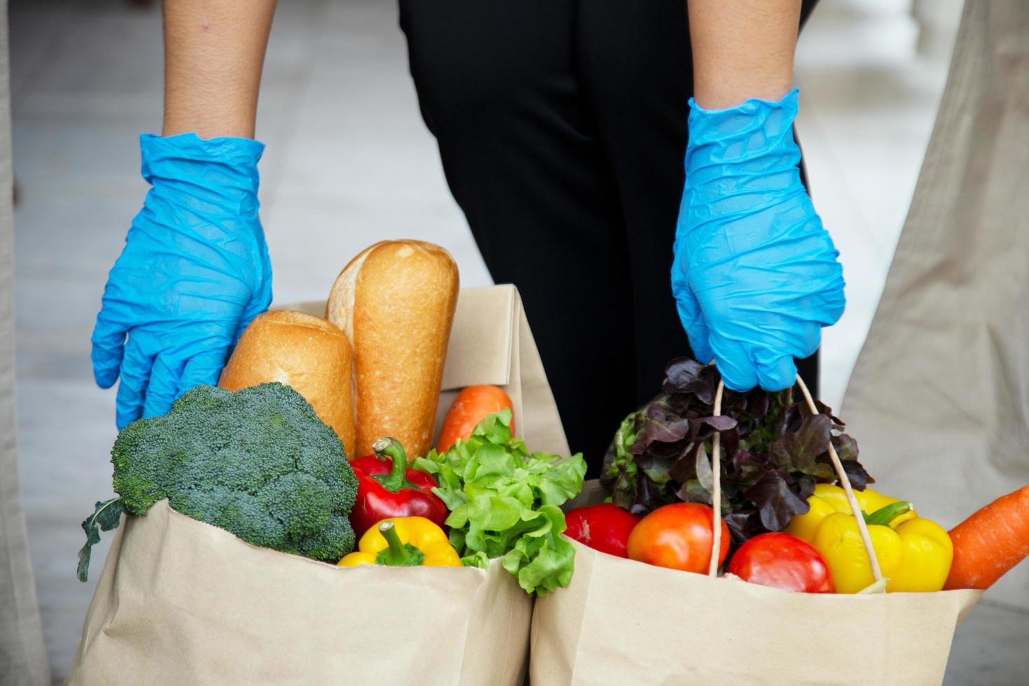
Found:
<svg viewBox="0 0 1029 686"><path fill-rule="evenodd" d="M779 100L793 79L801 0L688 0L694 100L706 109Z"/></svg>

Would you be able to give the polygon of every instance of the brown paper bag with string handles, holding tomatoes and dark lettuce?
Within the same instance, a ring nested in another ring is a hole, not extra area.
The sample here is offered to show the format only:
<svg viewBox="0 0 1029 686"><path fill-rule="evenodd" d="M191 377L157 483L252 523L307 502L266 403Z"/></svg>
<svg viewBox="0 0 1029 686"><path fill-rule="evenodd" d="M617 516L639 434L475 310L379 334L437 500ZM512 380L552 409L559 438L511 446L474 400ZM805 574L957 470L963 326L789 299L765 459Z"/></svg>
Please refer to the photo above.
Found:
<svg viewBox="0 0 1029 686"><path fill-rule="evenodd" d="M714 475L717 460L713 449ZM849 490L842 467L837 472ZM604 497L599 482L590 481L566 507ZM533 610L533 686L938 685L954 629L982 594L790 592L573 543L571 583L538 599Z"/></svg>

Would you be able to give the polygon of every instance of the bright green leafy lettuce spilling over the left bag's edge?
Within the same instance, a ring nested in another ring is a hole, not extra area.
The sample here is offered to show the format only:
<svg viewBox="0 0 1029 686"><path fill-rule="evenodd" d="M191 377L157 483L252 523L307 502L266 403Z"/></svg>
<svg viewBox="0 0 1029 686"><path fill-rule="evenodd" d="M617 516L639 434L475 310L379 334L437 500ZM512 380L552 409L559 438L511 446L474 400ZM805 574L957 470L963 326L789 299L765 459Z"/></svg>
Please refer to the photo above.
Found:
<svg viewBox="0 0 1029 686"><path fill-rule="evenodd" d="M415 466L439 480L434 492L451 509L447 526L461 562L486 567L503 557L526 592L544 595L572 577L575 548L561 537L560 505L581 491L586 462L530 454L511 437L510 421L509 409L490 414L467 440L430 450Z"/></svg>

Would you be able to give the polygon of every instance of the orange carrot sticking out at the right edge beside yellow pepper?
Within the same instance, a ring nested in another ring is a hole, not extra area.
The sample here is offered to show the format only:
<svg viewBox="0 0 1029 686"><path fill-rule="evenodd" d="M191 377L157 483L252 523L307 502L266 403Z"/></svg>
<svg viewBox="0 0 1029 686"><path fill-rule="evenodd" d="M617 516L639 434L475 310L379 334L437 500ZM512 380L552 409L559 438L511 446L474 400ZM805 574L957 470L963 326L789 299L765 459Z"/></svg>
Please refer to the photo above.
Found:
<svg viewBox="0 0 1029 686"><path fill-rule="evenodd" d="M1001 496L951 530L945 589L989 588L1029 555L1029 485Z"/></svg>

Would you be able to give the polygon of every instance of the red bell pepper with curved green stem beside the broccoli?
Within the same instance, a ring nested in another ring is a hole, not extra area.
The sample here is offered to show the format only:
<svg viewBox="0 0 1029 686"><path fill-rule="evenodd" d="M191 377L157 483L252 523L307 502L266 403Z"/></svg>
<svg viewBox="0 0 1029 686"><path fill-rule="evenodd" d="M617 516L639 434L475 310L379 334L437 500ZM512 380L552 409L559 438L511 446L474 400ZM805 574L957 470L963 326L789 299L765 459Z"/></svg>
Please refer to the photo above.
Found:
<svg viewBox="0 0 1029 686"><path fill-rule="evenodd" d="M450 511L432 493L439 485L431 474L407 468L407 455L393 438L380 438L375 455L354 460L350 466L357 476L357 501L350 511L354 533L361 536L390 517L425 517L442 526Z"/></svg>

